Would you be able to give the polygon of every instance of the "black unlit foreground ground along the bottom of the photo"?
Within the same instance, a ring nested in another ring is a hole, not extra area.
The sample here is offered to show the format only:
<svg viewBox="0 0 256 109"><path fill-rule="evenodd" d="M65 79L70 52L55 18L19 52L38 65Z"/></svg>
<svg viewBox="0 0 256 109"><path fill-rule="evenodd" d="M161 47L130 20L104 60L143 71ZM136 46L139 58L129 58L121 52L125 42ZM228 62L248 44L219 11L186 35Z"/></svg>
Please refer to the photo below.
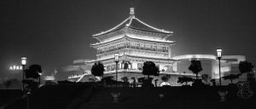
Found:
<svg viewBox="0 0 256 109"><path fill-rule="evenodd" d="M228 91L226 101L220 101L219 90ZM237 97L238 91L236 86L103 88L62 84L43 86L28 96L22 96L20 90L1 90L0 105L5 109L255 109L255 95L242 99ZM112 95L118 93L119 102L113 102Z"/></svg>

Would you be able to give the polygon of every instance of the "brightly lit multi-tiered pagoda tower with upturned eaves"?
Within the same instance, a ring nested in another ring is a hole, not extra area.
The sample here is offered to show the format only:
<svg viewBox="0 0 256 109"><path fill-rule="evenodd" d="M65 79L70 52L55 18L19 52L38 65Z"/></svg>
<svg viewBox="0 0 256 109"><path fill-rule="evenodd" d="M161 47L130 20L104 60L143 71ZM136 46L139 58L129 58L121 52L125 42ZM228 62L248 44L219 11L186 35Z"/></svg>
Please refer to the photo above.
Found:
<svg viewBox="0 0 256 109"><path fill-rule="evenodd" d="M97 50L96 60L85 61L92 66L96 62L102 62L105 66L104 76L115 77L116 63L114 54L119 54L118 80L121 77L145 77L142 74L143 62L153 61L160 68L160 76L171 76L172 85L177 85L177 76L190 75L191 73L177 73L177 60L172 59L172 45L175 41L168 38L173 32L149 26L135 16L134 8L130 9L130 16L112 29L93 35L99 43L90 44ZM175 76L176 75L176 76ZM88 81L90 69L79 77L78 81ZM114 78L115 79L115 78Z"/></svg>

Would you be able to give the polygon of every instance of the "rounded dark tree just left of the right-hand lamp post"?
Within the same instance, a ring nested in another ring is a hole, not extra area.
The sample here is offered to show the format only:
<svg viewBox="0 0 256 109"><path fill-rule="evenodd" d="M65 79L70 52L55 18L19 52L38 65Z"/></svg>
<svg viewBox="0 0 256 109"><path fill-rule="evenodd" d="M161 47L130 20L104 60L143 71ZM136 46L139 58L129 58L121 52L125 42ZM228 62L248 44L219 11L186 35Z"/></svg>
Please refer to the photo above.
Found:
<svg viewBox="0 0 256 109"><path fill-rule="evenodd" d="M200 60L191 60L191 65L189 66L189 70L196 75L196 79L198 79L198 73L202 71L201 61Z"/></svg>

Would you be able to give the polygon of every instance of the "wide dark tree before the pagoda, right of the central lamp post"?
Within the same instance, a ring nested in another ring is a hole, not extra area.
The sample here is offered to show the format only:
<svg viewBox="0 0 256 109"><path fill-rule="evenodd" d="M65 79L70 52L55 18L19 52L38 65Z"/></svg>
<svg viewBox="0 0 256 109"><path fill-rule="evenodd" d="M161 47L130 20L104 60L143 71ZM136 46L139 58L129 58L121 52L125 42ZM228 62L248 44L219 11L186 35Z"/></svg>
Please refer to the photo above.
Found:
<svg viewBox="0 0 256 109"><path fill-rule="evenodd" d="M154 62L146 61L143 63L143 75L148 75L148 79L150 75L159 76L159 67L155 66Z"/></svg>

